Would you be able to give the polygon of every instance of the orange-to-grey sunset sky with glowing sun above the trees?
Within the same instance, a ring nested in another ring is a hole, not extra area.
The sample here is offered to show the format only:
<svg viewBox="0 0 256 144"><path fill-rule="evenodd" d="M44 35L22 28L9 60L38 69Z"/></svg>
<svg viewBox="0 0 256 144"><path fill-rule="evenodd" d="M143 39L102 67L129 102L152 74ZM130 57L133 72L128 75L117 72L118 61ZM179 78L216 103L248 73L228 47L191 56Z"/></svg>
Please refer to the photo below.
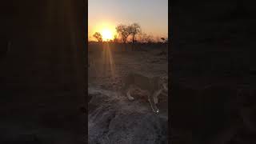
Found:
<svg viewBox="0 0 256 144"><path fill-rule="evenodd" d="M115 33L118 24L138 22L142 32L168 36L168 0L88 0L88 38Z"/></svg>

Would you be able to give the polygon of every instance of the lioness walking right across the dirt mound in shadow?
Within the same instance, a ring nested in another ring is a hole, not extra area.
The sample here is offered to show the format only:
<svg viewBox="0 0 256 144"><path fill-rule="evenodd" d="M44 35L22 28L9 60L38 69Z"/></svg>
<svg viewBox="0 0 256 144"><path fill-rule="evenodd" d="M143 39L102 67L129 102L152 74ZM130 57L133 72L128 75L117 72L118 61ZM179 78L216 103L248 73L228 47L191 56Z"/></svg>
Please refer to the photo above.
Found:
<svg viewBox="0 0 256 144"><path fill-rule="evenodd" d="M163 82L163 78L153 77L148 78L142 74L130 73L124 79L124 86L122 87L122 93L126 94L127 98L132 101L134 97L130 95L130 86L137 86L142 90L147 90L149 92L148 101L154 113L158 113L158 95L162 92L167 92L166 83Z"/></svg>

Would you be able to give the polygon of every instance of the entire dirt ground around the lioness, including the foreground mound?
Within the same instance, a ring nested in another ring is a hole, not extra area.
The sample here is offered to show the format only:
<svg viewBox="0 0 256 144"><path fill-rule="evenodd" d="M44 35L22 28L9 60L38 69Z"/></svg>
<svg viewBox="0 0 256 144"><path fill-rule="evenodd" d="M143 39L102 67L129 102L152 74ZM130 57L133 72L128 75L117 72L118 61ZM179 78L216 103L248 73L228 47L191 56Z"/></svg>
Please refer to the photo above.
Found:
<svg viewBox="0 0 256 144"><path fill-rule="evenodd" d="M167 46L89 45L89 143L167 143L168 101L159 96L154 114L145 93L133 90L130 102L120 89L130 72L168 75ZM144 96L144 97L143 97Z"/></svg>

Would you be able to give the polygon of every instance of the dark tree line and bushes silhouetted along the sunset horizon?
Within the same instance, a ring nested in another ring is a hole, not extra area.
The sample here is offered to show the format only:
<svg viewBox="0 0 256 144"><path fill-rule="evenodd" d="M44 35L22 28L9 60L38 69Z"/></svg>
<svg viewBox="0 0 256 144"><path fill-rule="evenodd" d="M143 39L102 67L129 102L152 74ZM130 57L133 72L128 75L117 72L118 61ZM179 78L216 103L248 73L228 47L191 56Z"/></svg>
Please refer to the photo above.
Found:
<svg viewBox="0 0 256 144"><path fill-rule="evenodd" d="M146 48L167 47L168 38L154 37L151 34L146 34L142 31L142 27L134 22L130 25L119 24L115 27L116 34L113 39L103 41L102 34L95 32L93 37L96 41L89 41L89 47L93 46L96 49L103 44L108 44L112 49L119 50L145 50Z"/></svg>

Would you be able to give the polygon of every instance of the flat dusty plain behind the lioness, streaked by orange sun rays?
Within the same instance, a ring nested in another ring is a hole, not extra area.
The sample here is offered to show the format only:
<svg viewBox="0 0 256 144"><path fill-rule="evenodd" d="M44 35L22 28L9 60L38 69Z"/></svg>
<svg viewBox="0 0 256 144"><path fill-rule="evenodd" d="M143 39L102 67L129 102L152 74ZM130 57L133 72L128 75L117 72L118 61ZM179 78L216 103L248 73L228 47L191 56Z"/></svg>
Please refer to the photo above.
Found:
<svg viewBox="0 0 256 144"><path fill-rule="evenodd" d="M89 48L89 86L98 85L118 90L122 85L122 78L131 71L148 77L168 75L167 46L149 50L141 47L135 51L130 50L130 46L126 47L127 50L120 47L118 50L118 46L106 44L102 50L96 46ZM166 54L162 54L163 50Z"/></svg>

